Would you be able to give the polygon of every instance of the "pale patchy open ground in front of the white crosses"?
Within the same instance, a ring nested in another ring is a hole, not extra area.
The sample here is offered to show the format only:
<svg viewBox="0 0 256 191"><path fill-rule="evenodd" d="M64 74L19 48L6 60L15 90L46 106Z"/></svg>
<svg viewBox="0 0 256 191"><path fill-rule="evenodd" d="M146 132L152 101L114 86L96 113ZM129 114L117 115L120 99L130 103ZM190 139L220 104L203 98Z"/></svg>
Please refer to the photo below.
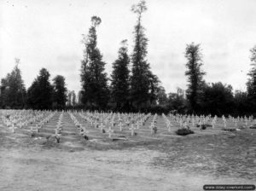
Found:
<svg viewBox="0 0 256 191"><path fill-rule="evenodd" d="M60 113L34 137L29 126L12 133L0 120L0 190L203 190L210 183L256 182L256 130L224 131L219 119L214 129L194 127L195 134L177 136L178 124L169 132L158 116L152 135L152 115L137 136L115 126L113 137L127 140L113 141L74 115L89 131L89 141L68 113L60 143L45 138L55 133Z"/></svg>

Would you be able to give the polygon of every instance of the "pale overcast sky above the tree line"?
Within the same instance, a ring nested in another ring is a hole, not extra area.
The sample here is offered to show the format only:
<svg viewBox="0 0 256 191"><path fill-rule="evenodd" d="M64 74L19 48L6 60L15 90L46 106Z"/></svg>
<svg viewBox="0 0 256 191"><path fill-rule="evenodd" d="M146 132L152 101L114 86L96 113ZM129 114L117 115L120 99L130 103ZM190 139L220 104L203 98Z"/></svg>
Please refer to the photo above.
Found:
<svg viewBox="0 0 256 191"><path fill-rule="evenodd" d="M20 58L28 88L42 67L51 79L60 74L68 90L81 89L82 34L90 17L100 16L98 47L108 74L117 58L120 41L133 47L138 0L0 0L0 78ZM245 90L250 52L256 44L255 0L148 0L143 14L148 62L166 92L186 89L184 76L187 43L201 43L202 69L209 83L221 81Z"/></svg>

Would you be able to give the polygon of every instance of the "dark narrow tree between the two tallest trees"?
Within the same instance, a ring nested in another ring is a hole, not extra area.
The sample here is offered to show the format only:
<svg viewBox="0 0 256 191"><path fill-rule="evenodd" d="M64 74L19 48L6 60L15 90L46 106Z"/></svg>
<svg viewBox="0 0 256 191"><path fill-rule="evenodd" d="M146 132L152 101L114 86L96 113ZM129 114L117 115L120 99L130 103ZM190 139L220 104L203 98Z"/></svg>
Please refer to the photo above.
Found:
<svg viewBox="0 0 256 191"><path fill-rule="evenodd" d="M111 95L118 110L127 109L129 106L130 59L127 51L127 40L123 40L119 49L119 57L113 62L113 72L111 75Z"/></svg>

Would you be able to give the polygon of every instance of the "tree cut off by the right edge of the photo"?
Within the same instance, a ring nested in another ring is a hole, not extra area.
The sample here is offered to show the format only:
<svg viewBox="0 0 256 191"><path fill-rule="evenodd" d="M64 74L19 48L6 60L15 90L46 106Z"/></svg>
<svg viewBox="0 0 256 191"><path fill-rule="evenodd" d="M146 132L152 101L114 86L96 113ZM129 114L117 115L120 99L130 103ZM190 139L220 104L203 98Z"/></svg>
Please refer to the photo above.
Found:
<svg viewBox="0 0 256 191"><path fill-rule="evenodd" d="M252 69L248 72L248 81L247 81L247 98L250 104L250 110L256 112L256 46L253 47L251 51L251 61Z"/></svg>

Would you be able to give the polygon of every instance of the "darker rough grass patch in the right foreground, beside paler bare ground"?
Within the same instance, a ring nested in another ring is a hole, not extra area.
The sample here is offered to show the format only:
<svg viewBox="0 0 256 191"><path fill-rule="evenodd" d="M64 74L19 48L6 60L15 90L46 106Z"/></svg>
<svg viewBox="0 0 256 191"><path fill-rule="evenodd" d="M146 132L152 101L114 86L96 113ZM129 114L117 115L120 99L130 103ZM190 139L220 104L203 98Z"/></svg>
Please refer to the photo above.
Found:
<svg viewBox="0 0 256 191"><path fill-rule="evenodd" d="M165 157L156 157L153 164L170 170L255 180L255 137L256 131L243 130L218 136L190 136L149 148L166 153Z"/></svg>

